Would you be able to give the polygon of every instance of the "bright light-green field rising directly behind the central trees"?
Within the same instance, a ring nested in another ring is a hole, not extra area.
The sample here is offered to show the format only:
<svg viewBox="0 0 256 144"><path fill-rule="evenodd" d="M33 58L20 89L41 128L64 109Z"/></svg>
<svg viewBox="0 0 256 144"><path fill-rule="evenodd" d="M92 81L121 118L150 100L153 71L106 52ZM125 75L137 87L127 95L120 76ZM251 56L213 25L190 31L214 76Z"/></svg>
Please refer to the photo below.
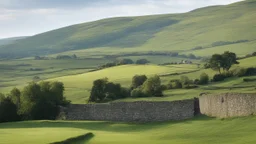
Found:
<svg viewBox="0 0 256 144"><path fill-rule="evenodd" d="M147 76L171 74L179 72L194 71L196 65L175 65L175 66L157 66L157 65L124 65L103 69L96 72L89 72L73 76L64 76L50 81L61 81L65 85L65 95L72 103L85 103L90 95L90 89L93 81L100 78L109 78L109 81L121 83L122 86L129 87L134 75L145 74Z"/></svg>

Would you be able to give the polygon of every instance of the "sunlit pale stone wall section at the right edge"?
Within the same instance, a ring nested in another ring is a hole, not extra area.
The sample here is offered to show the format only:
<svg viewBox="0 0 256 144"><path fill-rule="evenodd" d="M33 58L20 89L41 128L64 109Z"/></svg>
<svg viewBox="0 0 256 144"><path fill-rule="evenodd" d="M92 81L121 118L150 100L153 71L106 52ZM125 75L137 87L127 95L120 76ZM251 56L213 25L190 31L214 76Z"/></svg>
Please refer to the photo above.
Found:
<svg viewBox="0 0 256 144"><path fill-rule="evenodd" d="M219 117L239 117L256 114L256 94L226 93L203 95L199 98L202 114Z"/></svg>

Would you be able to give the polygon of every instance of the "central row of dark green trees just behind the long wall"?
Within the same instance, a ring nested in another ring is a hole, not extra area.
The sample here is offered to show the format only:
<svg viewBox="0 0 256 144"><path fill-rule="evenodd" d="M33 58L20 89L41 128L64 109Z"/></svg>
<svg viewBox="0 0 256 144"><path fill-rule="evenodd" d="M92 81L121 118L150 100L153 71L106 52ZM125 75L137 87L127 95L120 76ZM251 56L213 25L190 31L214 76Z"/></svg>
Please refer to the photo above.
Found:
<svg viewBox="0 0 256 144"><path fill-rule="evenodd" d="M157 75L149 78L146 75L135 75L129 88L103 78L93 82L88 102L108 102L127 97L161 97L162 92L161 80Z"/></svg>

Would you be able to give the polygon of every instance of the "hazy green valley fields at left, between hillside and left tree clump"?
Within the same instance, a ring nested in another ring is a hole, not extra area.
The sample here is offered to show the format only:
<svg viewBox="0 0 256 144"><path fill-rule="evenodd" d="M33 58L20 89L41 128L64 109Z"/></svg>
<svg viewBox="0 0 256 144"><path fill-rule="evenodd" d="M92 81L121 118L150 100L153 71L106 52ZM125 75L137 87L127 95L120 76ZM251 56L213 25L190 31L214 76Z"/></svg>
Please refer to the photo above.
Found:
<svg viewBox="0 0 256 144"><path fill-rule="evenodd" d="M22 88L35 76L40 80L88 72L99 65L109 62L107 59L82 60L33 60L17 59L0 61L0 91L8 92L13 87ZM40 69L38 71L30 70Z"/></svg>

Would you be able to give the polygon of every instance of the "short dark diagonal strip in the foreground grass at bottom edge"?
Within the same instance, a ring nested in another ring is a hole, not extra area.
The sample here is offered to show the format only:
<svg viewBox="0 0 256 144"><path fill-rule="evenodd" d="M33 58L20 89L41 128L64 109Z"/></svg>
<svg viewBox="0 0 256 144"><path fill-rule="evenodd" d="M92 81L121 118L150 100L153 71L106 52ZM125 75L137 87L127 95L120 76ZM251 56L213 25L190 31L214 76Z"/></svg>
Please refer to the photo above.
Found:
<svg viewBox="0 0 256 144"><path fill-rule="evenodd" d="M77 136L77 137L66 139L64 141L53 142L53 143L50 143L50 144L82 144L82 143L88 142L93 137L94 137L93 133L87 133L87 134L84 134L84 135L80 135L80 136Z"/></svg>

